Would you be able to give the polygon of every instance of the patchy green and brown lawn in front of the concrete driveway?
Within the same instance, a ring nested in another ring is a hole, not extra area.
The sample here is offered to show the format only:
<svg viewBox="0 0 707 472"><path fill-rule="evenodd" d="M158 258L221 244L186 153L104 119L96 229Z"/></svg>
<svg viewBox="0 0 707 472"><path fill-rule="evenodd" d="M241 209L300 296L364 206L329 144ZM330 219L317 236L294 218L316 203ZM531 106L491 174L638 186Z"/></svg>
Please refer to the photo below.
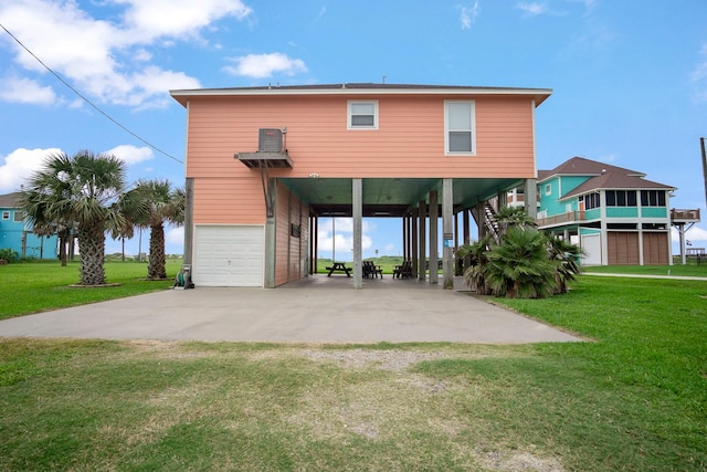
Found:
<svg viewBox="0 0 707 472"><path fill-rule="evenodd" d="M707 470L707 282L494 303L591 340L2 339L0 470Z"/></svg>

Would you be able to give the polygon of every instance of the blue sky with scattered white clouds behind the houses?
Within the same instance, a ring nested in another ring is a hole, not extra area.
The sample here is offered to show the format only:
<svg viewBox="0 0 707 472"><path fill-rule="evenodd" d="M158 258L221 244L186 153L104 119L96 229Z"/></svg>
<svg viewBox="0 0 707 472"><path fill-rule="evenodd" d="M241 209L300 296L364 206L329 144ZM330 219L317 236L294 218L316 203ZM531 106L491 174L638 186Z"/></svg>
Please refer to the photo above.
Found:
<svg viewBox="0 0 707 472"><path fill-rule="evenodd" d="M48 154L81 149L124 159L130 181L182 186L186 113L170 88L384 80L552 88L536 114L538 168L583 156L643 171L678 188L672 207L707 218L705 18L704 0L3 0L0 24L102 112L0 29L0 193ZM336 230L344 259L350 222ZM400 239L398 221L368 220L365 256L399 254ZM167 251L181 253L181 229Z"/></svg>

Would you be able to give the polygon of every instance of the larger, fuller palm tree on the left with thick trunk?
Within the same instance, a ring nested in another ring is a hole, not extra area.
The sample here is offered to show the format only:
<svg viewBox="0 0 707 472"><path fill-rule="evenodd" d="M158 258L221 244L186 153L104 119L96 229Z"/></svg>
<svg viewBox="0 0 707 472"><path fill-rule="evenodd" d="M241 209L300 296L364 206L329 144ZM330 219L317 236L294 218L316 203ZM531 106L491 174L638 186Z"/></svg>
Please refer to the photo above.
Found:
<svg viewBox="0 0 707 472"><path fill-rule="evenodd" d="M82 150L48 156L34 172L22 202L34 224L55 223L77 229L81 284L106 283L103 266L105 232L125 224L126 214L138 214L140 202L126 198L125 164L112 155Z"/></svg>

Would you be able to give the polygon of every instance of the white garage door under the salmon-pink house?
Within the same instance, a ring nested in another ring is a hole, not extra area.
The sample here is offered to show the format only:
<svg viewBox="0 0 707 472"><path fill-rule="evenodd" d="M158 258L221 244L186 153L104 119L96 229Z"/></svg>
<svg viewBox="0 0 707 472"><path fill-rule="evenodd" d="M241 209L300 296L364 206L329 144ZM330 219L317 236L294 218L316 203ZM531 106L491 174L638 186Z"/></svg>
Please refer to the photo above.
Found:
<svg viewBox="0 0 707 472"><path fill-rule="evenodd" d="M263 227L197 225L193 281L199 286L263 286Z"/></svg>

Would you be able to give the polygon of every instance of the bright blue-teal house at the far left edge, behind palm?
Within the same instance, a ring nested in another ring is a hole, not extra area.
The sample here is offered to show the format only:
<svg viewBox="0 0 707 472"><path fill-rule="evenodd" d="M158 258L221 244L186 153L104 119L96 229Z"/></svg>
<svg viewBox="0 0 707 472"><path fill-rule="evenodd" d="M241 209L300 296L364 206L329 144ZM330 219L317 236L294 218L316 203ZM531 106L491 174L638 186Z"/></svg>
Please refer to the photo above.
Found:
<svg viewBox="0 0 707 472"><path fill-rule="evenodd" d="M20 258L56 259L59 238L40 237L19 208L20 192L0 195L0 249L9 248Z"/></svg>

